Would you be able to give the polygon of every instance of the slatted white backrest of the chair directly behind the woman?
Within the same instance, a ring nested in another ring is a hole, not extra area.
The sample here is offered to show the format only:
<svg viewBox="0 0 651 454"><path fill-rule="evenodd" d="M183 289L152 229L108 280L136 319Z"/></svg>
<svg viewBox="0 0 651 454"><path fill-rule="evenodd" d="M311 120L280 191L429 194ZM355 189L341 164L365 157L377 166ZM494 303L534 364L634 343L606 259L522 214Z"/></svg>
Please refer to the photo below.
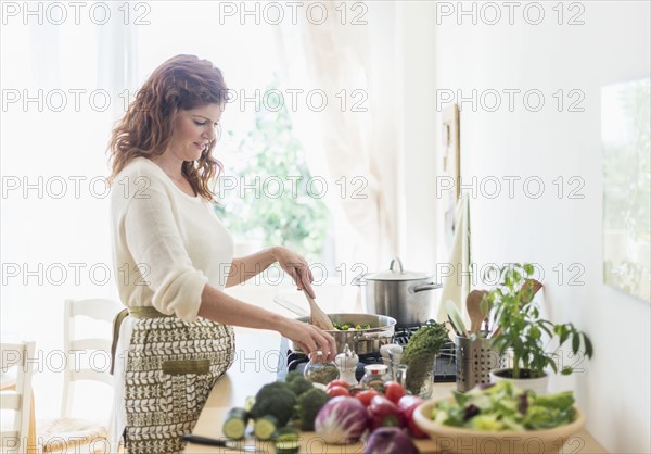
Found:
<svg viewBox="0 0 651 454"><path fill-rule="evenodd" d="M113 376L108 371L112 341L110 335L78 338L76 325L84 321L85 317L112 324L123 307L107 299L65 300L64 305L63 345L67 364L63 379L61 416L68 417L73 406L74 381L92 380L113 384ZM111 333L112 330L107 329L106 332Z"/></svg>

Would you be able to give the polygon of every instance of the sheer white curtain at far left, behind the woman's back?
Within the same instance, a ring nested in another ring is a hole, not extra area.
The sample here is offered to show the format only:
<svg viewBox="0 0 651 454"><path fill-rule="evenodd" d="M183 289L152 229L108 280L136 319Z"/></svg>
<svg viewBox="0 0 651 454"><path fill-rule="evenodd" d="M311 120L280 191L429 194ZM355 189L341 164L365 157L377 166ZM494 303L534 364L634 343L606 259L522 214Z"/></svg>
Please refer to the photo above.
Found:
<svg viewBox="0 0 651 454"><path fill-rule="evenodd" d="M16 2L1 30L1 329L36 341L38 417L59 412L64 299L117 299L105 150L135 88L135 30L125 3L92 4L76 21L69 3Z"/></svg>

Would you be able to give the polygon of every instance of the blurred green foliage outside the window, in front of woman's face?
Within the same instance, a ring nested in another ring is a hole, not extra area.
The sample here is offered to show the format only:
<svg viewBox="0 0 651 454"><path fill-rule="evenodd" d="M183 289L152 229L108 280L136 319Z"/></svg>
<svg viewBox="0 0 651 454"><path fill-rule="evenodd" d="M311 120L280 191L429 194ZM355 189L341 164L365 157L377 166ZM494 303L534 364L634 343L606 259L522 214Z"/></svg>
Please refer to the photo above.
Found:
<svg viewBox="0 0 651 454"><path fill-rule="evenodd" d="M224 178L229 180L220 187L232 189L218 194L216 211L237 240L286 245L314 262L322 256L331 214L281 103L280 99L261 103L252 130L226 131L237 150L228 151L229 172Z"/></svg>

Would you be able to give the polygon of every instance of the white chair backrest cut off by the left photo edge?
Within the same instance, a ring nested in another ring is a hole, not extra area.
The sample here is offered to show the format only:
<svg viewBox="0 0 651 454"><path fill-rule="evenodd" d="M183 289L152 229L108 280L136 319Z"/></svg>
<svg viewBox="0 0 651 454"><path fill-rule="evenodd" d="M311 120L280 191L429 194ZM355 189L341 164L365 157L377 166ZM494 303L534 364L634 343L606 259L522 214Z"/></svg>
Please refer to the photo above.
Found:
<svg viewBox="0 0 651 454"><path fill-rule="evenodd" d="M0 408L14 413L12 425L0 429L0 452L26 452L22 446L26 446L29 430L34 351L34 342L0 342Z"/></svg>

